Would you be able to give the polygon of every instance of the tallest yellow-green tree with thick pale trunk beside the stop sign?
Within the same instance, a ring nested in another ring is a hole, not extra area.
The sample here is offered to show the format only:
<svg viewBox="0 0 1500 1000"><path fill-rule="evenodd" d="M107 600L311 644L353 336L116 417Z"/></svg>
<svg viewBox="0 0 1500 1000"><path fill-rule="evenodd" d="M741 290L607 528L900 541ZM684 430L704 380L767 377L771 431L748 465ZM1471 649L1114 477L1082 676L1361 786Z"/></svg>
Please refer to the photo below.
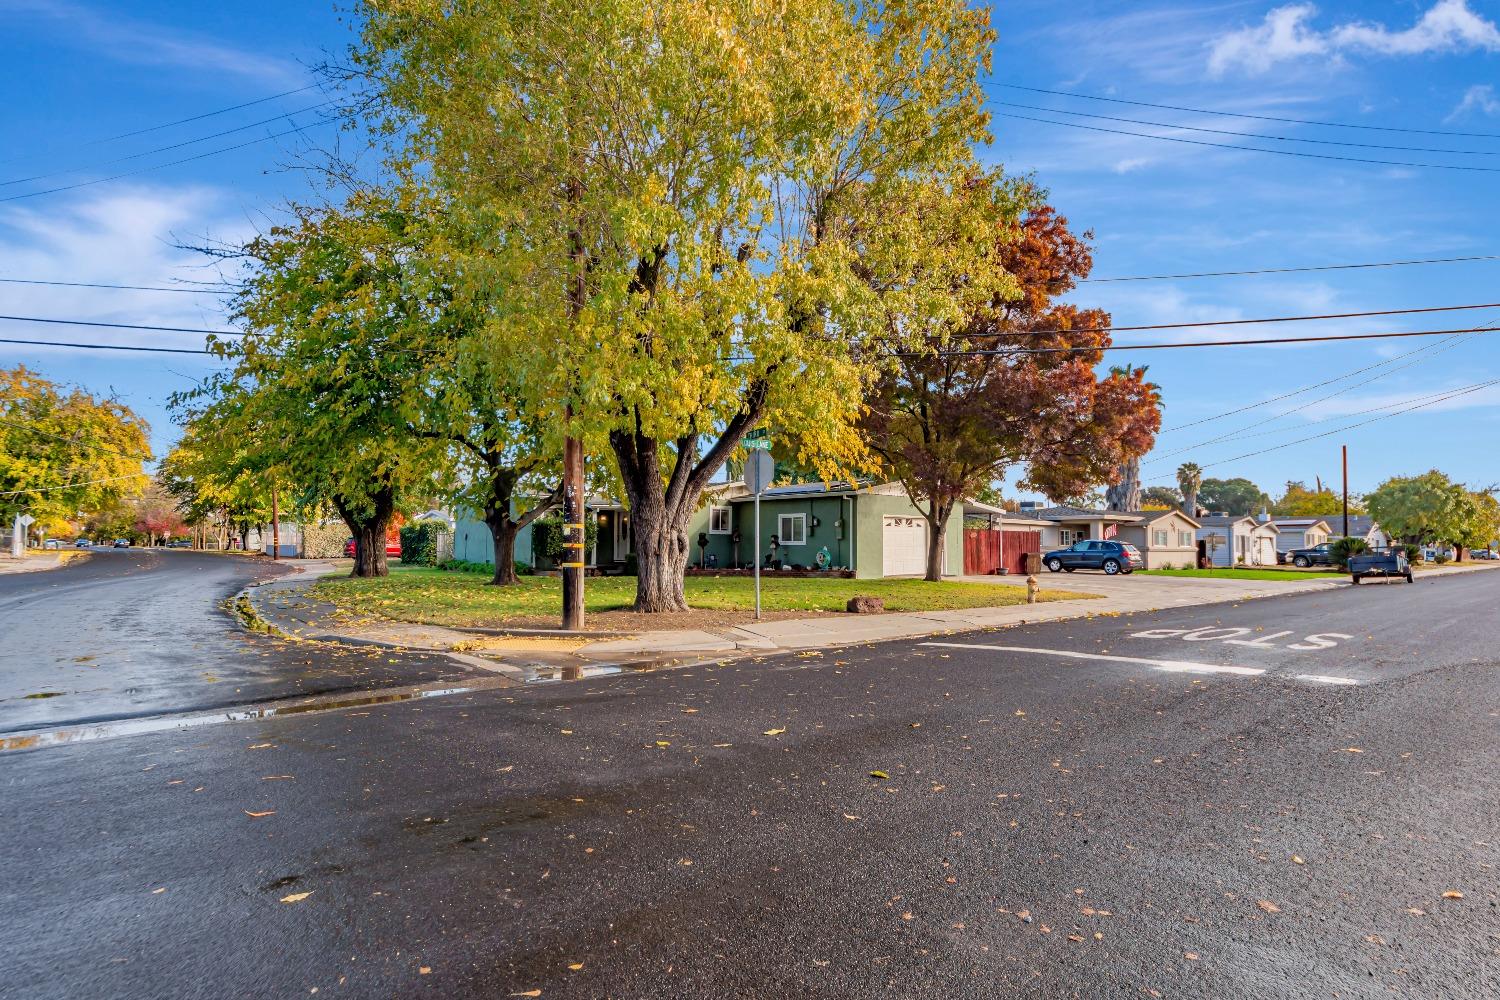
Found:
<svg viewBox="0 0 1500 1000"><path fill-rule="evenodd" d="M856 208L966 162L993 34L960 0L408 0L364 4L356 58L393 136L502 222L504 322L546 427L608 450L636 607L686 609L687 523L770 423L856 468L879 294L900 231ZM915 220L909 220L915 225ZM920 273L916 274L920 277ZM908 280L902 294L926 294Z"/></svg>

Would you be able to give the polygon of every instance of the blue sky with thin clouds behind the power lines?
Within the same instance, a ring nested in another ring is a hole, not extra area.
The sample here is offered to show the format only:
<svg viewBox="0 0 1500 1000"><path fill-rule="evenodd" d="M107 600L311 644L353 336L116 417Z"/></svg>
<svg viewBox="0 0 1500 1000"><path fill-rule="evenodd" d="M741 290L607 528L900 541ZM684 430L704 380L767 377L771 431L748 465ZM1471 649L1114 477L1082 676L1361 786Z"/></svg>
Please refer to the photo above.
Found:
<svg viewBox="0 0 1500 1000"><path fill-rule="evenodd" d="M992 93L998 114L1170 135L1232 145L1500 169L1500 1L1090 3L1011 0L994 7L1000 33ZM0 277L162 285L216 277L176 249L236 240L315 192L290 168L296 136L256 141L192 162L92 181L200 151L315 124L312 91L110 142L105 136L312 82L310 67L348 40L344 18L321 1L260 4L0 0ZM1122 100L1206 108L1161 111L1002 88L1011 82ZM1047 108L1048 111L1036 111ZM1060 111L1080 112L1074 115ZM1346 124L1485 133L1416 135L1257 121L1222 112ZM1110 115L1134 121L1089 118ZM1150 124L1142 124L1150 123ZM1228 133L1186 132L1179 126ZM248 126L248 127L242 127ZM240 129L210 142L117 157ZM1500 172L1392 166L1190 145L1136 135L994 118L988 162L1035 172L1077 229L1095 232L1095 276L1311 267L1497 253ZM1296 139L1472 150L1418 153ZM1491 138L1494 136L1494 138ZM75 172L62 172L75 171ZM1100 282L1076 300L1110 309L1118 324L1412 309L1500 300L1500 261L1257 277ZM0 313L218 327L212 295L0 283ZM1312 336L1476 327L1500 309L1344 319L1280 327L1208 327L1120 333L1146 343L1245 336ZM190 334L40 327L0 321L0 336L196 346ZM1425 348L1418 354L1408 354ZM1398 357L1401 355L1401 357ZM1338 475L1350 445L1356 492L1394 474L1437 466L1472 484L1500 480L1488 442L1500 430L1500 387L1455 396L1316 441L1384 412L1500 379L1500 334L1326 346L1218 348L1119 354L1149 363L1170 429L1148 456L1148 481L1170 481L1182 460L1206 475L1246 475L1278 490L1288 478ZM210 370L190 355L82 352L0 345L0 364L22 361L94 391L114 390L174 439L165 399ZM1178 429L1354 369L1364 376L1292 396L1236 417ZM1346 390L1346 391L1340 391ZM1340 393L1328 399L1330 393ZM1276 420L1278 414L1300 408ZM1209 439L1228 436L1232 439ZM1251 451L1264 451L1233 460ZM1168 454L1172 453L1172 454Z"/></svg>

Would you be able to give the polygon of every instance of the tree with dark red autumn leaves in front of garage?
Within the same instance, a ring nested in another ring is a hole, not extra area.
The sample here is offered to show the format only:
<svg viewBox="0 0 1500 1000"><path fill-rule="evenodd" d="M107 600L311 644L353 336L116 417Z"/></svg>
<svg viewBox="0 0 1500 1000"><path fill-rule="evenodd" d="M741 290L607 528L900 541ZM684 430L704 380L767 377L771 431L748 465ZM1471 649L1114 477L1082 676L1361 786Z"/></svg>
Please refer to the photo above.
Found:
<svg viewBox="0 0 1500 1000"><path fill-rule="evenodd" d="M1146 369L1095 370L1108 313L1054 301L1088 276L1088 235L1036 198L1018 217L998 213L988 264L1018 288L930 334L926 349L900 352L870 400L870 447L927 519L928 580L942 576L948 520L964 498L1016 466L1024 486L1076 496L1113 483L1161 427Z"/></svg>

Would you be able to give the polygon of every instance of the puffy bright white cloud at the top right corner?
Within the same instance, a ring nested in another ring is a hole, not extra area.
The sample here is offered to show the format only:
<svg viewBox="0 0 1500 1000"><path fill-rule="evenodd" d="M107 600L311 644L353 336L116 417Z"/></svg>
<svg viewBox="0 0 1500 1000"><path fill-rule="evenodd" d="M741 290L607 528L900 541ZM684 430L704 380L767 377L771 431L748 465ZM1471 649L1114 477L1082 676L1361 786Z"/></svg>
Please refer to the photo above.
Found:
<svg viewBox="0 0 1500 1000"><path fill-rule="evenodd" d="M1312 25L1316 15L1317 7L1311 3L1293 3L1275 7L1260 24L1218 37L1209 49L1209 72L1215 76L1232 69L1264 73L1278 63L1312 55L1338 60L1348 52L1500 51L1500 28L1474 12L1468 0L1437 0L1416 24L1402 30L1368 21L1318 30Z"/></svg>

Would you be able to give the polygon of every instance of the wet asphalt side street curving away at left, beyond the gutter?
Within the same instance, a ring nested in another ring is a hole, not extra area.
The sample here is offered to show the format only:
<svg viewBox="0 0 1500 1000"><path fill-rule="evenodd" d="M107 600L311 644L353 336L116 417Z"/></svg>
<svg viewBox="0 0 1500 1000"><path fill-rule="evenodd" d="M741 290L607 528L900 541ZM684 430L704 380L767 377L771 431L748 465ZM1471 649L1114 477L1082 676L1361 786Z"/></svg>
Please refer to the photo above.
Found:
<svg viewBox="0 0 1500 1000"><path fill-rule="evenodd" d="M447 658L330 651L238 630L224 607L266 561L98 549L0 576L0 732L462 676Z"/></svg>

